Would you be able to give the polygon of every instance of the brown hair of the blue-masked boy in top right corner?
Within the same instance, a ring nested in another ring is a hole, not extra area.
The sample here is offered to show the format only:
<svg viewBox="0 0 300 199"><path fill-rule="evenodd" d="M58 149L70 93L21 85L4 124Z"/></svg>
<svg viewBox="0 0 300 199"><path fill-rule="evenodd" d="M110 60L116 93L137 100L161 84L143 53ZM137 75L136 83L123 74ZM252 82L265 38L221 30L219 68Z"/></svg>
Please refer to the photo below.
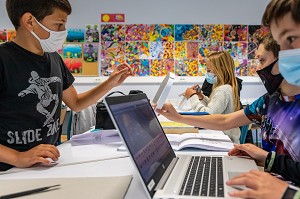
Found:
<svg viewBox="0 0 300 199"><path fill-rule="evenodd" d="M277 21L291 12L292 19L300 23L300 0L271 0L262 18L262 24L270 27L272 20Z"/></svg>

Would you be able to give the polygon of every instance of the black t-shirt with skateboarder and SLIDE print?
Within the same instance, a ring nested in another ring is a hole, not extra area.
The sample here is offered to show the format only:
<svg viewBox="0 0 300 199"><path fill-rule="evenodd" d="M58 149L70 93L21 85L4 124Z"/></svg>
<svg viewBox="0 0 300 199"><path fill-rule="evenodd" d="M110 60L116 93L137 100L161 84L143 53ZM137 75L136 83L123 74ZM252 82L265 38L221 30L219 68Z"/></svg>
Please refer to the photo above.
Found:
<svg viewBox="0 0 300 199"><path fill-rule="evenodd" d="M56 52L39 56L13 42L0 45L0 144L17 151L55 144L62 92L73 82ZM0 171L9 168L0 163Z"/></svg>

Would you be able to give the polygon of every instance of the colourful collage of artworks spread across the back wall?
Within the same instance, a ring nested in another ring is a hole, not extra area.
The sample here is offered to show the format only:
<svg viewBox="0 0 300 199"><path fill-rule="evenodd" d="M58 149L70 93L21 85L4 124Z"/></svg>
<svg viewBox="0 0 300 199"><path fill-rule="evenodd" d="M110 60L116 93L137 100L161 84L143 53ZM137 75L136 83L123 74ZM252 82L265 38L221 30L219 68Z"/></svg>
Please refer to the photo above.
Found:
<svg viewBox="0 0 300 199"><path fill-rule="evenodd" d="M58 53L80 76L108 76L124 61L135 76L164 76L167 71L204 76L207 53L227 50L237 76L254 76L258 40L268 32L260 25L89 24L68 29ZM14 36L15 32L0 30L0 42Z"/></svg>

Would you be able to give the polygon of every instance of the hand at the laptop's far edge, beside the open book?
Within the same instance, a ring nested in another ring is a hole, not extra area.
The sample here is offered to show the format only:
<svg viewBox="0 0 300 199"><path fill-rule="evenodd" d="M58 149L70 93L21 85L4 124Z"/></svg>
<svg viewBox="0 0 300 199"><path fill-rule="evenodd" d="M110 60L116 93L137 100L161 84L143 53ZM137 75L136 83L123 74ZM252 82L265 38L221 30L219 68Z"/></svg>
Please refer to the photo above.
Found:
<svg viewBox="0 0 300 199"><path fill-rule="evenodd" d="M253 158L258 166L265 166L268 152L253 144L237 144L228 152L232 156L249 156Z"/></svg>

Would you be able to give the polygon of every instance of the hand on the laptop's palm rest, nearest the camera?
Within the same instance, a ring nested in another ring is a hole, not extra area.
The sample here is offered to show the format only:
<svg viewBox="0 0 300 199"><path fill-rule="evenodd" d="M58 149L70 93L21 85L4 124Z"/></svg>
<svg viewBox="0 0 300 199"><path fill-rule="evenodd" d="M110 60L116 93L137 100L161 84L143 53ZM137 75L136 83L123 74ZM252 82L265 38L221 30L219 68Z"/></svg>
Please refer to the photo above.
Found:
<svg viewBox="0 0 300 199"><path fill-rule="evenodd" d="M231 197L253 199L281 199L288 184L269 173L252 170L227 181L228 186L246 186L247 189L230 192Z"/></svg>

